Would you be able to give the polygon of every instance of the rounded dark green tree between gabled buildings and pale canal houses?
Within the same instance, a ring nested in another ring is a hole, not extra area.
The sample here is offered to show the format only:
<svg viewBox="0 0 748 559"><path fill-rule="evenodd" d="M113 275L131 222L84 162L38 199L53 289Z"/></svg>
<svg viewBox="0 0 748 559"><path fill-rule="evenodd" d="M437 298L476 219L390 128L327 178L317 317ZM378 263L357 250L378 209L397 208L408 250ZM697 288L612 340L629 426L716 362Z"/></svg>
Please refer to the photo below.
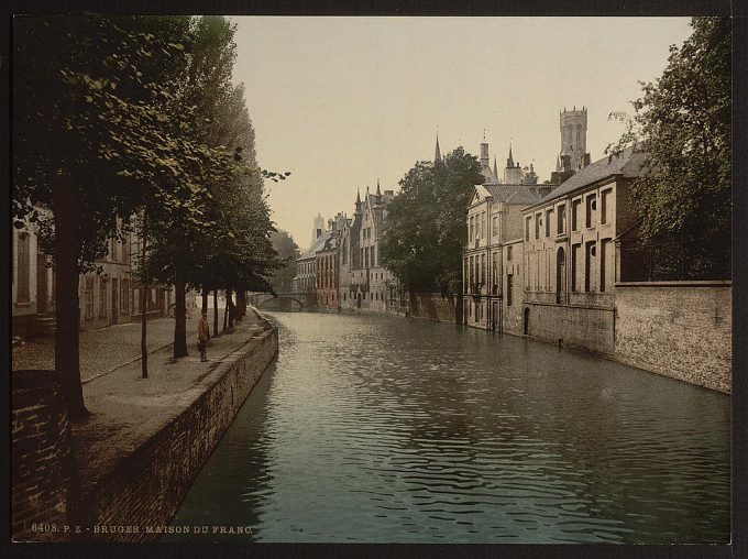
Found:
<svg viewBox="0 0 748 559"><path fill-rule="evenodd" d="M474 155L458 147L444 163L419 162L387 207L382 263L408 291L462 293L468 205L484 180Z"/></svg>

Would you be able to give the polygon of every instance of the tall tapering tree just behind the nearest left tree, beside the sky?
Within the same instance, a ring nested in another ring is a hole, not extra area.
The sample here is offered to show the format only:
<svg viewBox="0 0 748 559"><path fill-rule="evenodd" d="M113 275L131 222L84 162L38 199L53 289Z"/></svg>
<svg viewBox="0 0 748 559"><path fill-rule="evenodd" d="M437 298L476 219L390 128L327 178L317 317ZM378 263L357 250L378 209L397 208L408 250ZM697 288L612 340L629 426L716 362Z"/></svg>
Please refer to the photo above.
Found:
<svg viewBox="0 0 748 559"><path fill-rule="evenodd" d="M155 228L151 253L155 277L175 286L174 358L187 355L184 294L188 285L204 293L226 289L230 306L234 291L266 287L266 275L277 264L267 238L273 224L263 178L280 180L289 173L262 171L256 164L244 87L231 84L234 32L235 25L224 18L199 18L187 47L182 105L194 107L196 140L221 153L222 163L205 182L209 196L201 206L201 221L167 216ZM228 315L229 328L232 320L233 315Z"/></svg>

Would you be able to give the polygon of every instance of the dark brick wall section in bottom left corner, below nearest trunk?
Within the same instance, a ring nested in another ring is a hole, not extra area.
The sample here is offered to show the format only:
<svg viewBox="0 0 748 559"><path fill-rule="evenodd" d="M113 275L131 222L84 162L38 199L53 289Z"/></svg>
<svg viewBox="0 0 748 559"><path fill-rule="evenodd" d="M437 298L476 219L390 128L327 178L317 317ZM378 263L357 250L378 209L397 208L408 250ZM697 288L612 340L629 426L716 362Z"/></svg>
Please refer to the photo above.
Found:
<svg viewBox="0 0 748 559"><path fill-rule="evenodd" d="M77 480L61 386L54 371L12 374L12 539L65 541Z"/></svg>

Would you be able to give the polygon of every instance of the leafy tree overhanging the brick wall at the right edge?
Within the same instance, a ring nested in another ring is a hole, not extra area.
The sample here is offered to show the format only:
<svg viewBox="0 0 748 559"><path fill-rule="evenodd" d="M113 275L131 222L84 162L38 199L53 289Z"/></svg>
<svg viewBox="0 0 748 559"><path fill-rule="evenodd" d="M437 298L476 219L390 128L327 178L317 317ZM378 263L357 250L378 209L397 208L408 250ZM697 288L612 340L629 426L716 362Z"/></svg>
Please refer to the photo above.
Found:
<svg viewBox="0 0 748 559"><path fill-rule="evenodd" d="M692 35L670 47L668 66L642 83L635 113L609 152L646 151L631 185L640 237L664 245L688 277L729 277L732 197L732 32L727 18L694 18Z"/></svg>

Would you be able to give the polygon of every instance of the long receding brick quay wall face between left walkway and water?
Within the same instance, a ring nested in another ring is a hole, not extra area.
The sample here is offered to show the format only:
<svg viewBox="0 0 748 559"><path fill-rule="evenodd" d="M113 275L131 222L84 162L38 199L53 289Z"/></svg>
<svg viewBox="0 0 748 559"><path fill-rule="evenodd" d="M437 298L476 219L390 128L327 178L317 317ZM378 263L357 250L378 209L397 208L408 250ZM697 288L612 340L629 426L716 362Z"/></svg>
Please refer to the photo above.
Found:
<svg viewBox="0 0 748 559"><path fill-rule="evenodd" d="M211 386L154 437L128 457L87 495L82 525L168 524L244 399L278 351L278 331L264 330L210 373ZM99 533L86 539L151 541L158 533Z"/></svg>

